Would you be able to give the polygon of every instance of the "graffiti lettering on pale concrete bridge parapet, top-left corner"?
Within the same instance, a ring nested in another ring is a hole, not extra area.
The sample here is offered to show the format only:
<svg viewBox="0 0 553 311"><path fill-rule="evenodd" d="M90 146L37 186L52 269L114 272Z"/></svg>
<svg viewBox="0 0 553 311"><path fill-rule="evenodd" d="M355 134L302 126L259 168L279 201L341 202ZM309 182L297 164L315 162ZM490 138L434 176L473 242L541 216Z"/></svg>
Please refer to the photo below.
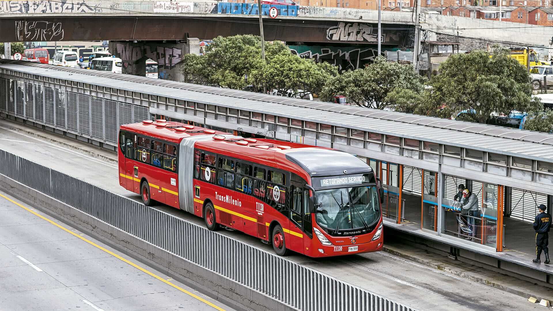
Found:
<svg viewBox="0 0 553 311"><path fill-rule="evenodd" d="M81 1L0 1L0 14L17 13L102 13L100 3Z"/></svg>

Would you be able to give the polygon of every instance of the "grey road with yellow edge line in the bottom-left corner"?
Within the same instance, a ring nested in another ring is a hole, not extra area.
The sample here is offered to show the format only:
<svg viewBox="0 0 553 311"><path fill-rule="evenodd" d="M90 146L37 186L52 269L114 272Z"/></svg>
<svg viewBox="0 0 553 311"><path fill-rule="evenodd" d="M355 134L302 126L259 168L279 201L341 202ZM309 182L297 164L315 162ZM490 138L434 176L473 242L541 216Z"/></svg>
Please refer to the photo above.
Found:
<svg viewBox="0 0 553 311"><path fill-rule="evenodd" d="M0 310L233 310L0 191Z"/></svg>

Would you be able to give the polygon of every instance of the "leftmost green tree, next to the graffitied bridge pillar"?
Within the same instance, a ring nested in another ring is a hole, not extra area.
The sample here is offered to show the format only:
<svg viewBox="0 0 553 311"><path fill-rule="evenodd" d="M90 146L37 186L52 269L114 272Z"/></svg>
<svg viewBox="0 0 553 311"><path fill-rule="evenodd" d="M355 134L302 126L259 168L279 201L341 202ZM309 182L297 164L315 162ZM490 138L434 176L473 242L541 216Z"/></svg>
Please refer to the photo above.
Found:
<svg viewBox="0 0 553 311"><path fill-rule="evenodd" d="M270 61L280 53L290 53L281 42L265 43L265 59ZM185 81L243 89L253 71L264 66L261 59L261 39L255 35L217 37L201 56L187 56L181 63Z"/></svg>

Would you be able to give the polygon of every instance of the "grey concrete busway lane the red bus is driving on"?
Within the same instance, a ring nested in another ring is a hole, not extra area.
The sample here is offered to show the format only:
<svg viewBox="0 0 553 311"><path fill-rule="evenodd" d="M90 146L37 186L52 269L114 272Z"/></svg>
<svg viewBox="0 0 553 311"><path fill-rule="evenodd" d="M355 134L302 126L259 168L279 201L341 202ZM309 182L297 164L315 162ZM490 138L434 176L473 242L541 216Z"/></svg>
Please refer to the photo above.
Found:
<svg viewBox="0 0 553 311"><path fill-rule="evenodd" d="M0 121L0 137L2 137L0 140L2 149L8 152L48 165L114 193L134 200L139 199L138 195L129 193L118 185L117 159L113 152L59 136L53 132L45 132L39 128L6 120ZM155 208L196 224L203 223L199 217L168 206L155 206ZM416 215L413 214L413 219L415 217ZM418 217L420 219L420 215ZM404 232L415 232L417 229L415 222L414 220L413 224L406 223L400 226L405 229ZM387 230L392 227L393 225L387 224ZM409 229L410 227L413 229ZM222 231L221 233L252 245L265 247L258 239L241 232ZM268 246L267 250L269 250ZM405 243L390 242L387 251L326 260L314 260L299 255L290 256L289 259L424 310L489 310L491 308L530 310L537 305L529 304L524 298L526 296L553 300L553 297L547 297L546 294L551 290L545 286L536 286L532 282L489 273L477 266L459 261L448 263L444 256L430 254L421 251L420 248L417 251L416 248L410 248ZM437 262L442 263L437 264ZM457 267L455 263L467 266ZM445 272L444 265L451 267L448 268L448 272ZM518 286L515 287L514 283ZM490 284L495 285L489 287ZM466 290L459 293L458 288ZM513 297L508 293L518 296Z"/></svg>

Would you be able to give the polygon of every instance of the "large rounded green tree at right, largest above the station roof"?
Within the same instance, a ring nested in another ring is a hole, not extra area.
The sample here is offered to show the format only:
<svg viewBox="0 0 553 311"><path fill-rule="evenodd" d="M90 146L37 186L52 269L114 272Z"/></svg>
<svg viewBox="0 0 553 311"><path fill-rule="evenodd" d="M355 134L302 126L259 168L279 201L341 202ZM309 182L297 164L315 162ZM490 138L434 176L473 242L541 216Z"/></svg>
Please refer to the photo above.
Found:
<svg viewBox="0 0 553 311"><path fill-rule="evenodd" d="M432 77L427 101L418 107L427 115L456 116L465 121L486 123L492 112L539 111L542 105L531 97L526 68L509 57L504 49L455 54L440 65L440 75Z"/></svg>

